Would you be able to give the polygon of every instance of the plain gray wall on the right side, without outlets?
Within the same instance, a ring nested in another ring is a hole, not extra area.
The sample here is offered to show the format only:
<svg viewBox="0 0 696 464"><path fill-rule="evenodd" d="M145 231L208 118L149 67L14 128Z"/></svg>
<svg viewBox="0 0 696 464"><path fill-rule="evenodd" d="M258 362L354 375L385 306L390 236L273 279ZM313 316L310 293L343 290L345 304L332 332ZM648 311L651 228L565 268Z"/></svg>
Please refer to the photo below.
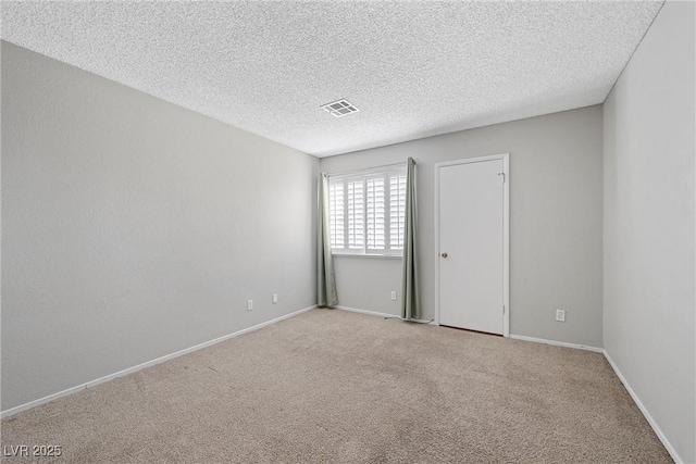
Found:
<svg viewBox="0 0 696 464"><path fill-rule="evenodd" d="M668 1L605 102L605 348L696 462L694 3Z"/></svg>

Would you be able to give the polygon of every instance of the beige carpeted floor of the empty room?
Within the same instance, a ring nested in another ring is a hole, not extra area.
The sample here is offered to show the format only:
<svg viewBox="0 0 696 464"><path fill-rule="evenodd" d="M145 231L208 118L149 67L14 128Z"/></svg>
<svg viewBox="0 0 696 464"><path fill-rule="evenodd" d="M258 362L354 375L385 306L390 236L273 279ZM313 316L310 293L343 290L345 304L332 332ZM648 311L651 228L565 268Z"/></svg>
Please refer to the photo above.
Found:
<svg viewBox="0 0 696 464"><path fill-rule="evenodd" d="M331 310L9 417L2 444L71 463L672 462L601 354Z"/></svg>

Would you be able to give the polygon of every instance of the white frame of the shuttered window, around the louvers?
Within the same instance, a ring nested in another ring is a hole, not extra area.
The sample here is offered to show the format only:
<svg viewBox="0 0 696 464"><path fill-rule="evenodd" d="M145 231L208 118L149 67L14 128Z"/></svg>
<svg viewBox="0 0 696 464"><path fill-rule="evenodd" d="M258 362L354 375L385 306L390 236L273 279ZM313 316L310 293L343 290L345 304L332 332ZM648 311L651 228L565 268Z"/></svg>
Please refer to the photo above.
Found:
<svg viewBox="0 0 696 464"><path fill-rule="evenodd" d="M369 168L369 170L360 170L353 171L350 173L344 174L330 174L328 175L328 188L330 192L333 184L343 184L343 235L344 235L344 247L335 248L332 243L332 254L336 256L363 256L363 258L397 258L400 259L403 256L403 246L401 248L391 248L391 186L390 179L394 176L403 177L403 183L406 184L406 175L407 175L407 164L397 164L390 165L388 167L382 168ZM369 226L368 226L368 181L375 178L382 178L384 180L384 249L370 249L369 248ZM349 217L349 183L360 181L362 184L362 209L361 209L361 217L362 217L362 248L349 248L349 228L350 223L348 221ZM331 193L330 193L331 195ZM406 203L406 192L403 193L403 203ZM330 215L332 215L334 204L330 200ZM406 205L403 204L403 208ZM399 217L402 222L406 221L406 211L403 211L403 216ZM333 237L333 222L330 221L330 236ZM397 230L403 229L405 224L397 225ZM400 240L401 243L403 240ZM333 240L332 240L333 242Z"/></svg>

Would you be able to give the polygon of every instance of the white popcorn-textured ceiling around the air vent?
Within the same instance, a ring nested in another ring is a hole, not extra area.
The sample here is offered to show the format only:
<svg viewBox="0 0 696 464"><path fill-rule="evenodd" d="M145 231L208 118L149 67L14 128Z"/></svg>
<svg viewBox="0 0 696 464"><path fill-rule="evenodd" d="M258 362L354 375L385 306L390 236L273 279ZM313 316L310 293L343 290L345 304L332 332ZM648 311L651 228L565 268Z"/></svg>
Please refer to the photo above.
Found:
<svg viewBox="0 0 696 464"><path fill-rule="evenodd" d="M324 156L600 103L661 7L3 1L2 38Z"/></svg>

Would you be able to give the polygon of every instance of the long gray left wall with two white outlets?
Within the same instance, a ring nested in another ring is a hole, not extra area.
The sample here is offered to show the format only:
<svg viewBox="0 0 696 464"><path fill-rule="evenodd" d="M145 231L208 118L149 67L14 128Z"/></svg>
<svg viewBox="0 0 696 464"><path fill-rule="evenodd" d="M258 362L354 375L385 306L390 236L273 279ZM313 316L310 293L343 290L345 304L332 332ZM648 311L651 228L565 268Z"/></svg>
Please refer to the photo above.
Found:
<svg viewBox="0 0 696 464"><path fill-rule="evenodd" d="M2 42L2 410L314 304L318 165Z"/></svg>

